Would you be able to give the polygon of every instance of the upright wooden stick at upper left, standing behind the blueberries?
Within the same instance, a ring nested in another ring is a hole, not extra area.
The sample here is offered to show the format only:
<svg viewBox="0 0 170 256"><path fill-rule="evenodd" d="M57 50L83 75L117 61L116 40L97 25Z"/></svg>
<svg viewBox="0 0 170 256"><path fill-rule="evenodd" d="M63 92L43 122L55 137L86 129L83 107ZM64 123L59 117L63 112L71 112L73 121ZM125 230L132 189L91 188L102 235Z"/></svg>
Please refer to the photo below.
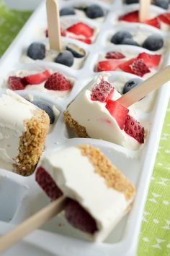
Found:
<svg viewBox="0 0 170 256"><path fill-rule="evenodd" d="M50 49L61 51L61 23L57 0L46 1Z"/></svg>

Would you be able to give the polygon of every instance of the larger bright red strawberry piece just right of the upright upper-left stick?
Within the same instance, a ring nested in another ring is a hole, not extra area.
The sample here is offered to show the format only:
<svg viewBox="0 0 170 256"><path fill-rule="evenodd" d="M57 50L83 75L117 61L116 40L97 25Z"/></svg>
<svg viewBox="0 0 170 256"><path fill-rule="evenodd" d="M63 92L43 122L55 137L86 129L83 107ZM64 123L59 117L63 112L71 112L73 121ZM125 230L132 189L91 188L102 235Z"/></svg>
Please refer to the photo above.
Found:
<svg viewBox="0 0 170 256"><path fill-rule="evenodd" d="M67 31L75 35L84 35L86 38L90 38L94 33L94 29L84 24L83 22L79 22L72 25L71 27L68 27Z"/></svg>

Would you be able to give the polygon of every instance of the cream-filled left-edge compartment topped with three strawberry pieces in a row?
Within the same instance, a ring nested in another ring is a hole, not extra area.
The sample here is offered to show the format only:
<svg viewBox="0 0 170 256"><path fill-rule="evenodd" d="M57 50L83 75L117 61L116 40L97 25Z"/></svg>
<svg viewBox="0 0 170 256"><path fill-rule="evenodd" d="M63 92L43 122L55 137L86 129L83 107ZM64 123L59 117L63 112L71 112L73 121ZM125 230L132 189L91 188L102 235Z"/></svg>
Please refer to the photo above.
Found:
<svg viewBox="0 0 170 256"><path fill-rule="evenodd" d="M4 78L1 87L11 90L36 90L55 98L63 98L71 93L73 83L73 78L67 78L58 71L18 70Z"/></svg>

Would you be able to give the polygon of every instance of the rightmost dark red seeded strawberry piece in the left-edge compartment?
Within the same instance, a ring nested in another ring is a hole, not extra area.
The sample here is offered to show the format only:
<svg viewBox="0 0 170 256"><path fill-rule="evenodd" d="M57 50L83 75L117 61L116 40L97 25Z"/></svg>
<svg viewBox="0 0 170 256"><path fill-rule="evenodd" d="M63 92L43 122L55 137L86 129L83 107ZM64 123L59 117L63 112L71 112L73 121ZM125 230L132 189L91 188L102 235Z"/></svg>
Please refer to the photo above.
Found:
<svg viewBox="0 0 170 256"><path fill-rule="evenodd" d="M48 80L45 82L45 88L48 90L71 90L72 85L63 74L55 72L51 74Z"/></svg>

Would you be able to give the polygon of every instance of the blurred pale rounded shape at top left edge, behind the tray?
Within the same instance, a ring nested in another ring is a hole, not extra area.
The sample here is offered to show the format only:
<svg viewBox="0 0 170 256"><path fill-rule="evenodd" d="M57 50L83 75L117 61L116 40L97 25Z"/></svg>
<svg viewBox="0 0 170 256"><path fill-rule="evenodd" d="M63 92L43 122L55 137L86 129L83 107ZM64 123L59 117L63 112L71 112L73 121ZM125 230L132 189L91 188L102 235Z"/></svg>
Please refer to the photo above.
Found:
<svg viewBox="0 0 170 256"><path fill-rule="evenodd" d="M13 9L35 9L42 0L4 0L4 2Z"/></svg>

